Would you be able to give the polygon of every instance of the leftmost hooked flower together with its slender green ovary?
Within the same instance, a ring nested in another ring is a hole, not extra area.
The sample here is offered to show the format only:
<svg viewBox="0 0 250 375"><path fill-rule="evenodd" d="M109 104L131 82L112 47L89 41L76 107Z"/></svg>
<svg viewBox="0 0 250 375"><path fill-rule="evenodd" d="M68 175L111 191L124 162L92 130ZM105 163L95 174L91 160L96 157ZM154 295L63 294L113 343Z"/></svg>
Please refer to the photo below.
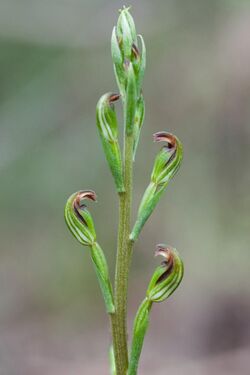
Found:
<svg viewBox="0 0 250 375"><path fill-rule="evenodd" d="M96 201L96 193L92 190L81 190L72 194L65 205L64 217L70 232L78 242L90 247L91 259L94 263L106 309L108 313L112 314L115 307L108 265L100 245L96 242L94 222L84 202L86 199Z"/></svg>

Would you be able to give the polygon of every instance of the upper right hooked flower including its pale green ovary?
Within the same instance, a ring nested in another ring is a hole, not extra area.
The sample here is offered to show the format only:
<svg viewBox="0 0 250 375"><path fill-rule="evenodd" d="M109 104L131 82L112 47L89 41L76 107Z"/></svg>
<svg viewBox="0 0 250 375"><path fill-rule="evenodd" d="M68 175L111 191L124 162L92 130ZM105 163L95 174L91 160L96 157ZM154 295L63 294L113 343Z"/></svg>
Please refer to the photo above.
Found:
<svg viewBox="0 0 250 375"><path fill-rule="evenodd" d="M130 235L132 241L138 238L169 181L178 171L182 160L182 144L175 135L167 132L158 132L154 134L154 140L155 142L164 141L166 144L155 158L151 181L142 197L137 220Z"/></svg>

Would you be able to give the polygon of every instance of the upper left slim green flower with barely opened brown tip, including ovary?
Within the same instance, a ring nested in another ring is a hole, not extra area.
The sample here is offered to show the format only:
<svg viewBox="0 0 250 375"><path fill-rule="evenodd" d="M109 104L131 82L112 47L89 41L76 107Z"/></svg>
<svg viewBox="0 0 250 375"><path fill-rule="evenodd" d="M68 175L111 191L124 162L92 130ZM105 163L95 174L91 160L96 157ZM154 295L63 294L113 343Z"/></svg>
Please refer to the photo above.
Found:
<svg viewBox="0 0 250 375"><path fill-rule="evenodd" d="M118 192L124 191L121 151L118 141L118 124L114 103L120 95L104 94L97 103L96 121L104 153Z"/></svg>

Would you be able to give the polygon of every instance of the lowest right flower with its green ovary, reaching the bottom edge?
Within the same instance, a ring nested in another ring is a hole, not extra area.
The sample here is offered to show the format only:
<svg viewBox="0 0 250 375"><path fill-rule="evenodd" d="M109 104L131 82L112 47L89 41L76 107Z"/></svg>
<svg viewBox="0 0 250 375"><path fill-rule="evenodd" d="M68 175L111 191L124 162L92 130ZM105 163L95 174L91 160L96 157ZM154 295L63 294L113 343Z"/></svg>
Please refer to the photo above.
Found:
<svg viewBox="0 0 250 375"><path fill-rule="evenodd" d="M146 298L142 301L135 317L128 375L137 374L152 304L165 301L176 290L183 277L183 262L175 249L160 244L156 247L155 255L163 256L164 261L156 268Z"/></svg>

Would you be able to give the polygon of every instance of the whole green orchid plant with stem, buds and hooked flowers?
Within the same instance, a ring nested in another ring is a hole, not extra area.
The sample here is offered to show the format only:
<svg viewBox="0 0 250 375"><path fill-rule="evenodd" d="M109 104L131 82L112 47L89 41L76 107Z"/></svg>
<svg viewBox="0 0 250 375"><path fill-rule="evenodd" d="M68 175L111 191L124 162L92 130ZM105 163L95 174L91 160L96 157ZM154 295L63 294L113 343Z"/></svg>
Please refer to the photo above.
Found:
<svg viewBox="0 0 250 375"><path fill-rule="evenodd" d="M179 169L182 145L166 131L153 135L163 142L156 155L148 187L141 199L137 218L131 227L133 165L144 121L145 103L142 81L146 67L143 37L137 35L129 8L120 10L111 37L111 54L119 93L106 93L97 103L96 122L110 171L119 197L119 224L114 288L104 252L97 242L94 221L86 201L96 201L92 190L81 190L70 196L65 206L66 224L78 240L90 250L90 256L100 284L112 328L110 362L112 375L137 374L144 337L154 303L165 301L178 287L183 277L183 262L171 246L159 244L156 255L162 263L153 272L134 320L129 348L127 335L127 291L133 246L140 232L161 199L165 189ZM118 119L115 105L121 100L124 113L123 152L118 139Z"/></svg>

